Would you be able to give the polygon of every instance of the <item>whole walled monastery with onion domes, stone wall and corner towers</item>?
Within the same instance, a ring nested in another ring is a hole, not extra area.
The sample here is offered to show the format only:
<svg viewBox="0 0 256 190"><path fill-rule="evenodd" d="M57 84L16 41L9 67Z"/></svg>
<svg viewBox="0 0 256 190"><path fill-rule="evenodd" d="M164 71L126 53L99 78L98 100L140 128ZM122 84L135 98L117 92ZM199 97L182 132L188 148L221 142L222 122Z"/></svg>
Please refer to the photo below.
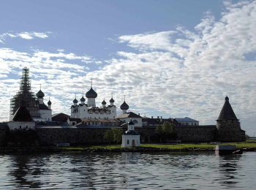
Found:
<svg viewBox="0 0 256 190"><path fill-rule="evenodd" d="M44 103L45 94L40 88L37 94L31 92L29 69L23 68L20 78L20 90L10 100L10 121L0 123L0 144L11 143L12 137L20 132L34 132L40 145L54 145L68 142L71 145L102 144L105 131L112 128L123 129L122 146L138 146L140 142L154 142L157 138L156 127L165 121L173 124L177 132L176 140L181 142L241 142L245 132L225 97L225 104L217 118L217 125L200 126L192 118L147 118L138 113L128 112L129 105L121 104L121 115L117 115L113 96L107 104L97 106L97 92L91 88L85 96L77 97L70 107L70 115L59 113L52 115L50 98ZM12 142L14 143L14 142Z"/></svg>

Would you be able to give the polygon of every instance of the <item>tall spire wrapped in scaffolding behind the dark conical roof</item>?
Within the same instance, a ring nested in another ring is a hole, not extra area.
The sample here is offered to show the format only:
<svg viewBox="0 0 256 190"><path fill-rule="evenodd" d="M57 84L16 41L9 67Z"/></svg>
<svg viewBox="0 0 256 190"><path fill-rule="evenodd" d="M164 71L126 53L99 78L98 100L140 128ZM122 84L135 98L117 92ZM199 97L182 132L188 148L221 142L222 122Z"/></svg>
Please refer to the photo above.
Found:
<svg viewBox="0 0 256 190"><path fill-rule="evenodd" d="M20 90L10 100L10 121L20 106L25 106L29 110L33 118L39 117L39 101L33 92L31 92L31 78L29 77L29 69L22 69L20 77Z"/></svg>

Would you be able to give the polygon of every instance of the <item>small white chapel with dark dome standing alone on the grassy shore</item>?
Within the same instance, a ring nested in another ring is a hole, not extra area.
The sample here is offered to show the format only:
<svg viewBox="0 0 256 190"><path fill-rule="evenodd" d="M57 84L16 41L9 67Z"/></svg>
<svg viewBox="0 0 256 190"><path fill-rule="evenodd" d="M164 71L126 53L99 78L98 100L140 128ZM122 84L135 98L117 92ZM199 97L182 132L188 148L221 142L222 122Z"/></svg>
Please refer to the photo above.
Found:
<svg viewBox="0 0 256 190"><path fill-rule="evenodd" d="M122 136L121 147L135 147L140 146L140 134L135 132L135 125L130 119L128 123L128 131L126 131Z"/></svg>

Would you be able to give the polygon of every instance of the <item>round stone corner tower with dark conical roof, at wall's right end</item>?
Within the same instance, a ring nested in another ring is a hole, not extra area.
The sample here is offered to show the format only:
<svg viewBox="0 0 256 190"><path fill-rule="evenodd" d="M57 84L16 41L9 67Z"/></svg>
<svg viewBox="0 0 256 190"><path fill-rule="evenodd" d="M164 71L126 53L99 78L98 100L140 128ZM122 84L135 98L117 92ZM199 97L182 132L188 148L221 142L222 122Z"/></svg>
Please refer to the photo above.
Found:
<svg viewBox="0 0 256 190"><path fill-rule="evenodd" d="M217 119L217 140L220 142L241 142L246 140L245 132L241 130L240 122L236 118L227 96Z"/></svg>

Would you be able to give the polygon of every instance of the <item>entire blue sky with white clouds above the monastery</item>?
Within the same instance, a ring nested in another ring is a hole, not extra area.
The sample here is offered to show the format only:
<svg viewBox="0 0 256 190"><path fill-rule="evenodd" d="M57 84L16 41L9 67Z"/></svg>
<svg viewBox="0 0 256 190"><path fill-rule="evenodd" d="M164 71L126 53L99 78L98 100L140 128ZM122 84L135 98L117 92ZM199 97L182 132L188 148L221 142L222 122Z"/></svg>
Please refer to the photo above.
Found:
<svg viewBox="0 0 256 190"><path fill-rule="evenodd" d="M129 111L200 125L227 95L256 132L256 1L3 1L0 18L0 121L27 66L53 113L70 114L93 78L98 106L126 95Z"/></svg>

